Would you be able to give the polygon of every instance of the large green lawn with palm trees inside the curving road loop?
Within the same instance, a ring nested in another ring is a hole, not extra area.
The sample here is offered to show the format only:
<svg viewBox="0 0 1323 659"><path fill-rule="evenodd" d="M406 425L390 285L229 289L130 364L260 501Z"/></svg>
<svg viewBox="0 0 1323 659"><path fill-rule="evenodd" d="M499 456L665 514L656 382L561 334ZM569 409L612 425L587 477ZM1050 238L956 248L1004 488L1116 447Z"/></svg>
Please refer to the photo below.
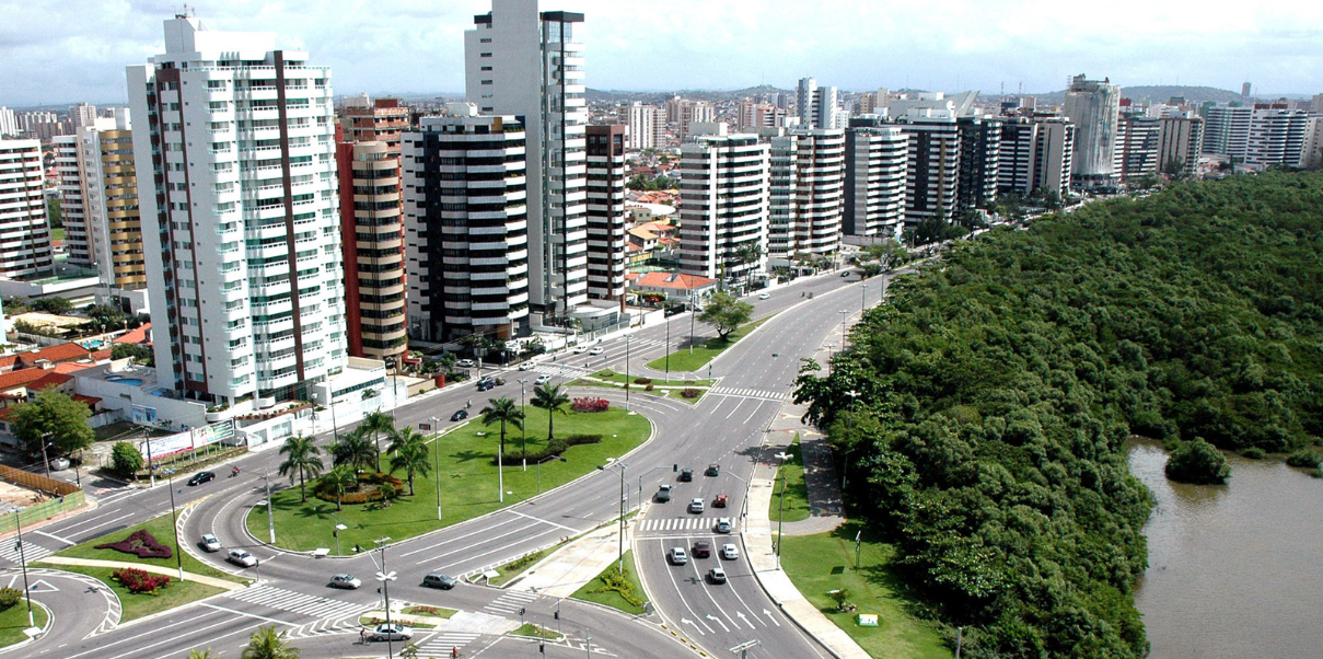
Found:
<svg viewBox="0 0 1323 659"><path fill-rule="evenodd" d="M517 392L516 392L517 393ZM546 412L529 405L528 449L541 449L546 441ZM505 467L505 500L497 500L496 446L500 425L483 426L474 414L467 426L441 438L441 503L443 523L437 521L437 479L433 475L414 479L417 495L396 499L389 507L377 504L345 505L336 512L335 502L312 496L299 502L299 488L291 487L271 498L275 508L277 545L288 549L311 550L328 548L336 552L332 531L337 523L349 527L340 532L340 553L352 554L355 545L373 547L372 541L388 536L396 541L418 536L441 527L448 527L488 512L512 505L538 491L537 468L531 462L528 471L519 466ZM606 458L618 458L648 438L651 425L647 418L627 414L613 408L603 413L556 416L556 435L601 434L602 443L573 446L565 453L566 462L550 461L541 467L541 490L545 492L605 464ZM479 433L483 433L479 435ZM507 447L519 449L520 431L508 429ZM433 445L427 445L433 449ZM404 474L396 474L402 478ZM247 517L249 531L267 539L266 507L254 507Z"/></svg>

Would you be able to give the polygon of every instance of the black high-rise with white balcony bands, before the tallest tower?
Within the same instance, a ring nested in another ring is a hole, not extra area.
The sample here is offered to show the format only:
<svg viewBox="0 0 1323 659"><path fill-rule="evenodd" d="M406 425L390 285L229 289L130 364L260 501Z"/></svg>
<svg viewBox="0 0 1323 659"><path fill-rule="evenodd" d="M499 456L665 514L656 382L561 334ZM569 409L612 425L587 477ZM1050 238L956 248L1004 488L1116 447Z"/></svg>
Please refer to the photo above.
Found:
<svg viewBox="0 0 1323 659"><path fill-rule="evenodd" d="M401 139L409 331L515 339L529 316L527 132L515 116L452 114Z"/></svg>

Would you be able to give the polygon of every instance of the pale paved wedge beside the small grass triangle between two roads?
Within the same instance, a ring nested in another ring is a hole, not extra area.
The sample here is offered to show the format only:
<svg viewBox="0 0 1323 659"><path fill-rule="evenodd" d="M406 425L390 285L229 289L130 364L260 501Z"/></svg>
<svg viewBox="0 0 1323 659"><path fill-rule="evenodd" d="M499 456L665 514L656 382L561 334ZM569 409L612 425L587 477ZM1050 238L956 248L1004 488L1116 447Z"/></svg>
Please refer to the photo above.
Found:
<svg viewBox="0 0 1323 659"><path fill-rule="evenodd" d="M646 503L644 505L650 505ZM624 524L624 547L634 539L632 525L644 511ZM620 525L609 524L557 549L537 561L524 576L509 585L511 590L525 590L546 597L570 597L576 590L597 578L602 570L615 565L619 557Z"/></svg>

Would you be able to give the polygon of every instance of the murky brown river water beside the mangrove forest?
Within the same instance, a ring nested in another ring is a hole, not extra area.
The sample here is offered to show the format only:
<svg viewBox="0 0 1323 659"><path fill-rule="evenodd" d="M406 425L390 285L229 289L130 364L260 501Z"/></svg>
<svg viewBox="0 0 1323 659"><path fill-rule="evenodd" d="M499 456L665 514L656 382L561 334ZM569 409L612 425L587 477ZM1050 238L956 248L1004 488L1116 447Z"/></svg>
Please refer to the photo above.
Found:
<svg viewBox="0 0 1323 659"><path fill-rule="evenodd" d="M1156 499L1135 598L1150 658L1323 656L1323 480L1228 457L1229 484L1185 486L1155 442L1129 459Z"/></svg>

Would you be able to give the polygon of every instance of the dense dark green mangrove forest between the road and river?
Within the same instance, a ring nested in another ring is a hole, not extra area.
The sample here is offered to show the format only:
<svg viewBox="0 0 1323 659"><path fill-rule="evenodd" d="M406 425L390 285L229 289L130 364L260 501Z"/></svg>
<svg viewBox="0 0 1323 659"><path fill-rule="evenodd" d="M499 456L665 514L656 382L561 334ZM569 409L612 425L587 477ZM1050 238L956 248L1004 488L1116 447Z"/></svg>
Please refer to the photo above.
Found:
<svg viewBox="0 0 1323 659"><path fill-rule="evenodd" d="M1320 175L1091 204L897 281L796 400L963 656L1143 656L1125 442L1318 442L1320 254Z"/></svg>

